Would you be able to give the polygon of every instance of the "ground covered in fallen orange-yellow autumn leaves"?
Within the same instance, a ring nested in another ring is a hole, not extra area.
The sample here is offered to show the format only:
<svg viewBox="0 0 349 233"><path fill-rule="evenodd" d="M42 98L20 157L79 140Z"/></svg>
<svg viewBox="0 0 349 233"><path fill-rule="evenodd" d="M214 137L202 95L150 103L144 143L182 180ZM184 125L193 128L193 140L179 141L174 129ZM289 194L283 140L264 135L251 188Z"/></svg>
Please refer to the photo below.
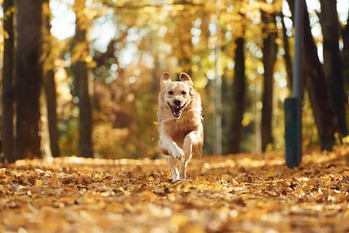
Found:
<svg viewBox="0 0 349 233"><path fill-rule="evenodd" d="M0 232L349 232L349 149L192 160L17 161L0 169Z"/></svg>

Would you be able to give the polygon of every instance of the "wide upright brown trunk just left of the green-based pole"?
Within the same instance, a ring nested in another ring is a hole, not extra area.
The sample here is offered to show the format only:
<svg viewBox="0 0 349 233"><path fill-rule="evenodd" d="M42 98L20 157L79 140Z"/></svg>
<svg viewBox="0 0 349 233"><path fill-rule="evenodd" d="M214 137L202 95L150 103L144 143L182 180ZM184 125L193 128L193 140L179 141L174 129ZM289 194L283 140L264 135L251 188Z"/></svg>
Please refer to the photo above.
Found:
<svg viewBox="0 0 349 233"><path fill-rule="evenodd" d="M263 28L263 65L264 65L264 88L262 97L262 151L266 150L268 144L273 143L271 122L273 118L273 70L276 62L277 31L274 15L269 15L262 11Z"/></svg>

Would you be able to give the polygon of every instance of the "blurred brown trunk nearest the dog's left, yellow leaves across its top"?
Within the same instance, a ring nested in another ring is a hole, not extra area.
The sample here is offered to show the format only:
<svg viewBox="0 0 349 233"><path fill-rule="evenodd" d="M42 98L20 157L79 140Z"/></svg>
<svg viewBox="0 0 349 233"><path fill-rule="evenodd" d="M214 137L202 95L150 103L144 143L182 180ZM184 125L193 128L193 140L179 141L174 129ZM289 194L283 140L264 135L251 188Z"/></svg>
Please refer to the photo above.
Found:
<svg viewBox="0 0 349 233"><path fill-rule="evenodd" d="M76 13L76 35L74 38L76 48L82 46L77 61L73 64L74 78L78 80L79 98L79 156L93 157L92 150L92 109L89 94L88 70L85 58L89 55L87 43L87 18L84 13L85 0L76 0L74 11Z"/></svg>

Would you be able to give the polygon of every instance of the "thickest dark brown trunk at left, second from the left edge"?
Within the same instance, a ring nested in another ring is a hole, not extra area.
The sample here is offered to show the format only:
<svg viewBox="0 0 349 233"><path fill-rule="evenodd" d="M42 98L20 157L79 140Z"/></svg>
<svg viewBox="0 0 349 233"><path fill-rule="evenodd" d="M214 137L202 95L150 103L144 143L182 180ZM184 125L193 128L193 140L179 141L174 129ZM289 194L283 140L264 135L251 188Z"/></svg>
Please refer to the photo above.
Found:
<svg viewBox="0 0 349 233"><path fill-rule="evenodd" d="M16 159L40 153L39 97L43 79L42 4L37 0L17 1L17 93Z"/></svg>

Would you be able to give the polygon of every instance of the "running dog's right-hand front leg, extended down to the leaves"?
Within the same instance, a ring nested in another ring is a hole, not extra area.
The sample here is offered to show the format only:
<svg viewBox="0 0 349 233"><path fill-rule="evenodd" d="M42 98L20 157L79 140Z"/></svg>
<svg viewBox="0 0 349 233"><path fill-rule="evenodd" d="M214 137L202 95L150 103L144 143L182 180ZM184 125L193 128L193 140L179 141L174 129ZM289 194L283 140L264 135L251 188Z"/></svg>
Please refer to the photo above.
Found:
<svg viewBox="0 0 349 233"><path fill-rule="evenodd" d="M192 131L187 136L185 136L183 142L183 150L185 153L184 160L180 161L180 169L179 169L179 178L180 181L187 180L187 166L192 158L192 146L194 143L197 143L197 132Z"/></svg>

